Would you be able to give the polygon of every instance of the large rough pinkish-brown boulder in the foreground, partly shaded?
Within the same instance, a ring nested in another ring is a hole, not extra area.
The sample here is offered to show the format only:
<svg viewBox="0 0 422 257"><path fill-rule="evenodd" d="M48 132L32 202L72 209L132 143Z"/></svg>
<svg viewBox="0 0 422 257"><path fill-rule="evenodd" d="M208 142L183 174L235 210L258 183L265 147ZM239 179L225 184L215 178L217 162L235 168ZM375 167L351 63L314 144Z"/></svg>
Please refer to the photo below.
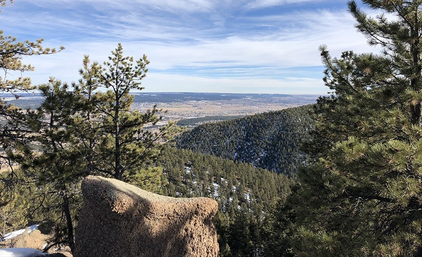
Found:
<svg viewBox="0 0 422 257"><path fill-rule="evenodd" d="M153 194L116 179L88 176L75 257L218 256L210 198Z"/></svg>

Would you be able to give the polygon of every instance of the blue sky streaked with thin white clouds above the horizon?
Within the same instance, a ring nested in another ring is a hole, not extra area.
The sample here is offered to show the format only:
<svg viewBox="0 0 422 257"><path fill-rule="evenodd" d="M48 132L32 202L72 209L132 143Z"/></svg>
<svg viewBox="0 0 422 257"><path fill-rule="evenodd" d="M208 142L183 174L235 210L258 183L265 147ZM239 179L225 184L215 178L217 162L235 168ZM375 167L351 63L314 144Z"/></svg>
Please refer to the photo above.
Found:
<svg viewBox="0 0 422 257"><path fill-rule="evenodd" d="M65 47L24 58L34 84L78 81L84 55L102 63L121 43L151 62L144 92L326 94L319 45L377 52L346 0L15 0L1 11L6 35Z"/></svg>

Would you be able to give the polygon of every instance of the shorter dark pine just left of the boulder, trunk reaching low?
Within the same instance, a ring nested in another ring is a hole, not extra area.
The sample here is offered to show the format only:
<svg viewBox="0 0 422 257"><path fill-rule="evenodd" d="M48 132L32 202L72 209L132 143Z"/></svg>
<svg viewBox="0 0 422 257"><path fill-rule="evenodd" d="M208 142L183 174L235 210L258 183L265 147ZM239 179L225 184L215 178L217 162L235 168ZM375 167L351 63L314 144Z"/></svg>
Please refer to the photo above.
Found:
<svg viewBox="0 0 422 257"><path fill-rule="evenodd" d="M74 105L77 101L68 85L54 78L38 89L44 101L20 117L20 123L27 128L28 147L16 149L9 157L21 165L26 177L36 182L41 198L54 197L48 205L44 205L47 201L40 201L38 209L60 210L55 241L64 241L73 250L75 211L82 200L79 182L87 174L87 164L79 150L81 144L72 129L73 117L78 113Z"/></svg>

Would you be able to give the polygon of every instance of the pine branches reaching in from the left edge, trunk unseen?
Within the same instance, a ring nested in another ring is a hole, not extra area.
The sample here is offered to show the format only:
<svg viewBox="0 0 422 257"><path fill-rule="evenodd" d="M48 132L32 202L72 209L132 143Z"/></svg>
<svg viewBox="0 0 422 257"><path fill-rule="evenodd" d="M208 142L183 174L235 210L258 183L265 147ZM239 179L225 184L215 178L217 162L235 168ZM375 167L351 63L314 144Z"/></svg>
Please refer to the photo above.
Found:
<svg viewBox="0 0 422 257"><path fill-rule="evenodd" d="M0 6L6 6L13 1L0 0ZM30 64L23 64L21 62L23 57L36 55L49 55L63 50L55 48L44 48L42 46L43 39L35 41L26 40L19 42L13 36L4 35L0 30L0 69L4 71L0 74L0 93L10 93L16 98L19 97L19 92L28 92L35 89L32 85L31 79L22 76L28 71L34 70ZM9 79L10 75L14 75L16 79ZM17 173L14 170L13 163L8 158L8 153L14 150L16 144L24 144L24 137L20 134L22 128L16 124L15 119L21 116L23 112L14 106L7 104L4 99L0 99L0 169L8 170L8 176L2 176L0 183L0 205L7 203L13 197L13 188L17 182Z"/></svg>

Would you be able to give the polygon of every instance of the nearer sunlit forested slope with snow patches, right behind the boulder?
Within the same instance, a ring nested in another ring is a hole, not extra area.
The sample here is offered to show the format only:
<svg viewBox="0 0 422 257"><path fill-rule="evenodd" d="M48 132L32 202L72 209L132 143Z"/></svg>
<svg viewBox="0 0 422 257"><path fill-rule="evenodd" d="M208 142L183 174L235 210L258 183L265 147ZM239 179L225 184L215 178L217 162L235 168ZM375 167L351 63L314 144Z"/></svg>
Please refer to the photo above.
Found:
<svg viewBox="0 0 422 257"><path fill-rule="evenodd" d="M222 256L254 256L266 247L267 216L290 193L289 178L252 164L190 150L166 148L159 159L167 186L163 194L212 197Z"/></svg>

